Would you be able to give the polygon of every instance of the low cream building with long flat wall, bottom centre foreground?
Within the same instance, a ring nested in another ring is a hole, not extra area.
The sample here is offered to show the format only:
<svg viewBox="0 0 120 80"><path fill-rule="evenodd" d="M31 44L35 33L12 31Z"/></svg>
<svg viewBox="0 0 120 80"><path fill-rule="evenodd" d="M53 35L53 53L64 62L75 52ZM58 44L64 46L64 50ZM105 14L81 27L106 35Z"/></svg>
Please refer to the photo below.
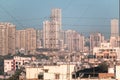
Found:
<svg viewBox="0 0 120 80"><path fill-rule="evenodd" d="M26 67L27 80L73 80L75 65L46 65L43 67ZM69 73L68 73L69 69ZM39 77L38 77L39 76ZM39 78L39 79L38 79Z"/></svg>

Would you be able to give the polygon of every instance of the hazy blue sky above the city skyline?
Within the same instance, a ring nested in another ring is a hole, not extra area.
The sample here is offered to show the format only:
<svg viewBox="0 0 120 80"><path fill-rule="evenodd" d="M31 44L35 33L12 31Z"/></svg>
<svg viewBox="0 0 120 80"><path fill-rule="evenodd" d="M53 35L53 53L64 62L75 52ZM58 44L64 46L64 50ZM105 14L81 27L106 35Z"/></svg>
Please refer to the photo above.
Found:
<svg viewBox="0 0 120 80"><path fill-rule="evenodd" d="M62 9L62 28L81 33L110 33L110 20L119 17L119 0L0 0L0 22L17 29L42 29L52 8Z"/></svg>

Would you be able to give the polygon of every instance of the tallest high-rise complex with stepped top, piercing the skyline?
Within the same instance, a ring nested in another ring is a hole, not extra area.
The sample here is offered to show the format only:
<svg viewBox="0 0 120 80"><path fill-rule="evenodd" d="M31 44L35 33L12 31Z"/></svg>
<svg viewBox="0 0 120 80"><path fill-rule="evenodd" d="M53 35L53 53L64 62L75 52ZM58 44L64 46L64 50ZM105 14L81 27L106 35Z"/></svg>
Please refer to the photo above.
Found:
<svg viewBox="0 0 120 80"><path fill-rule="evenodd" d="M50 21L43 22L44 48L60 49L61 9L52 9Z"/></svg>

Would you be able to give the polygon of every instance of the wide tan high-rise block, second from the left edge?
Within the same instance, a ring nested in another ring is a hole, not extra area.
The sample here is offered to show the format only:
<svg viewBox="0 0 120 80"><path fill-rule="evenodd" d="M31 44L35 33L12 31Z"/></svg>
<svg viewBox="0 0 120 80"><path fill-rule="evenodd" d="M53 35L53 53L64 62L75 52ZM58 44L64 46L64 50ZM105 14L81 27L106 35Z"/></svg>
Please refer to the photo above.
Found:
<svg viewBox="0 0 120 80"><path fill-rule="evenodd" d="M36 50L36 30L27 28L16 31L16 48L27 52Z"/></svg>

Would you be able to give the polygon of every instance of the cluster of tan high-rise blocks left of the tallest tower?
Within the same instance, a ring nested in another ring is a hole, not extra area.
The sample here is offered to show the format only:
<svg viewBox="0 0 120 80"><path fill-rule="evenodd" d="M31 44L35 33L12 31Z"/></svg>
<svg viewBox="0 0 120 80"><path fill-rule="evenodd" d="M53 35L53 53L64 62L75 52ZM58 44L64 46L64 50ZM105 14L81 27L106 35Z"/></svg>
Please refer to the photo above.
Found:
<svg viewBox="0 0 120 80"><path fill-rule="evenodd" d="M15 54L17 50L36 50L36 30L16 30L11 23L0 23L0 55Z"/></svg>

